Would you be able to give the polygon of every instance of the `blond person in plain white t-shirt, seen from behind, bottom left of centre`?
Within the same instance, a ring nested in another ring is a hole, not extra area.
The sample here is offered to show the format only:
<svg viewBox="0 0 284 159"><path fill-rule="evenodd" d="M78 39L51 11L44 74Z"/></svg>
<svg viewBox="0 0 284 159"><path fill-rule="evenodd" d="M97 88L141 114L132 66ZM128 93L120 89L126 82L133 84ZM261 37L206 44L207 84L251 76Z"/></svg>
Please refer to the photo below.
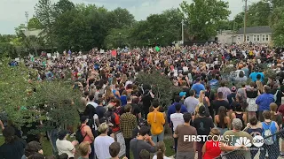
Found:
<svg viewBox="0 0 284 159"><path fill-rule="evenodd" d="M99 125L100 135L95 139L95 152L98 159L110 158L109 146L114 142L114 138L107 135L108 125L103 123Z"/></svg>

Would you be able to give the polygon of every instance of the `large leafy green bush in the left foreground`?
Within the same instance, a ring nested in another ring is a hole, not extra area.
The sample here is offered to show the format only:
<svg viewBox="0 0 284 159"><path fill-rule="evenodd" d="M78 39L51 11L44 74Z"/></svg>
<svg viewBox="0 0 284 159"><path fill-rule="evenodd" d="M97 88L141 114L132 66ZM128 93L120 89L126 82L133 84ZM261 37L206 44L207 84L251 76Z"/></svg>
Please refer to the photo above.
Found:
<svg viewBox="0 0 284 159"><path fill-rule="evenodd" d="M37 82L36 70L22 63L12 67L10 61L4 58L0 63L0 110L14 125L27 127L41 120L43 127L30 131L40 133L56 125L76 124L80 92L67 81Z"/></svg>

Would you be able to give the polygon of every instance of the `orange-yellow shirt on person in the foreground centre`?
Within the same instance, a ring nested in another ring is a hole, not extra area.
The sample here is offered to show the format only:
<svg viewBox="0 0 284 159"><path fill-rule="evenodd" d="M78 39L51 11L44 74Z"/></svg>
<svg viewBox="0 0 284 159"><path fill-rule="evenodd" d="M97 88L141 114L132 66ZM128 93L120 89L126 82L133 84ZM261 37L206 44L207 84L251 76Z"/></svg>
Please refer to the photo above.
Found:
<svg viewBox="0 0 284 159"><path fill-rule="evenodd" d="M162 112L154 110L147 116L147 122L151 125L151 133L154 135L160 134L163 131L163 125L165 124L165 118Z"/></svg>

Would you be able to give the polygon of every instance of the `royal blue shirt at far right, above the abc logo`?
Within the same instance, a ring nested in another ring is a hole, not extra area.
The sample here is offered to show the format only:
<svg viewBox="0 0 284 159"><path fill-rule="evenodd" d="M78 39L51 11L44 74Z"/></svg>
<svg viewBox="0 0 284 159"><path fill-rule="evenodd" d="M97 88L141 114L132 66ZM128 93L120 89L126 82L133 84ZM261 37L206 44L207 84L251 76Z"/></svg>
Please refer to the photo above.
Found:
<svg viewBox="0 0 284 159"><path fill-rule="evenodd" d="M272 94L263 94L259 95L256 98L256 104L259 106L258 110L270 110L269 105L274 102L274 95Z"/></svg>

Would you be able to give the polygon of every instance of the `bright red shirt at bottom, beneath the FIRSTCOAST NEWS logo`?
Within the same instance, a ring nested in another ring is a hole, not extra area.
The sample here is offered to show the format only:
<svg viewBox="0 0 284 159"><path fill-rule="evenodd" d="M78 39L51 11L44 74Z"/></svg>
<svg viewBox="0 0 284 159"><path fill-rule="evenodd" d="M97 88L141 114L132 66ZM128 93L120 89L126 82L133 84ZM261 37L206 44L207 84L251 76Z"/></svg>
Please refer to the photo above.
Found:
<svg viewBox="0 0 284 159"><path fill-rule="evenodd" d="M203 159L216 158L221 154L221 149L220 149L221 143L219 141L208 140L205 142L205 144L206 144L206 151L205 154L203 155Z"/></svg>

